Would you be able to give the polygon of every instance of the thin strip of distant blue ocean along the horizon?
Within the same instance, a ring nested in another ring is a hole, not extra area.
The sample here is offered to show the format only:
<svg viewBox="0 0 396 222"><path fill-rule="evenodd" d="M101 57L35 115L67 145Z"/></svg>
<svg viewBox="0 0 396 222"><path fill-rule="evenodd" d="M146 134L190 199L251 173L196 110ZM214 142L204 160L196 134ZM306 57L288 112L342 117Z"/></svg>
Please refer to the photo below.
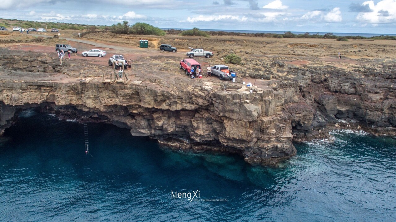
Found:
<svg viewBox="0 0 396 222"><path fill-rule="evenodd" d="M163 30L168 30L171 28L162 28ZM190 30L191 28L175 28L176 30ZM262 30L221 30L221 29L200 29L202 31L213 31L213 32L240 32L240 33L271 33L271 34L284 34L285 31L262 31ZM299 35L299 34L305 34L305 32L291 32L293 34ZM314 35L316 33L319 33L319 35L324 35L327 32L309 32L311 35ZM332 32L336 36L363 36L363 37L373 37L373 36L396 36L396 34L379 34L379 33L345 33L345 32Z"/></svg>

